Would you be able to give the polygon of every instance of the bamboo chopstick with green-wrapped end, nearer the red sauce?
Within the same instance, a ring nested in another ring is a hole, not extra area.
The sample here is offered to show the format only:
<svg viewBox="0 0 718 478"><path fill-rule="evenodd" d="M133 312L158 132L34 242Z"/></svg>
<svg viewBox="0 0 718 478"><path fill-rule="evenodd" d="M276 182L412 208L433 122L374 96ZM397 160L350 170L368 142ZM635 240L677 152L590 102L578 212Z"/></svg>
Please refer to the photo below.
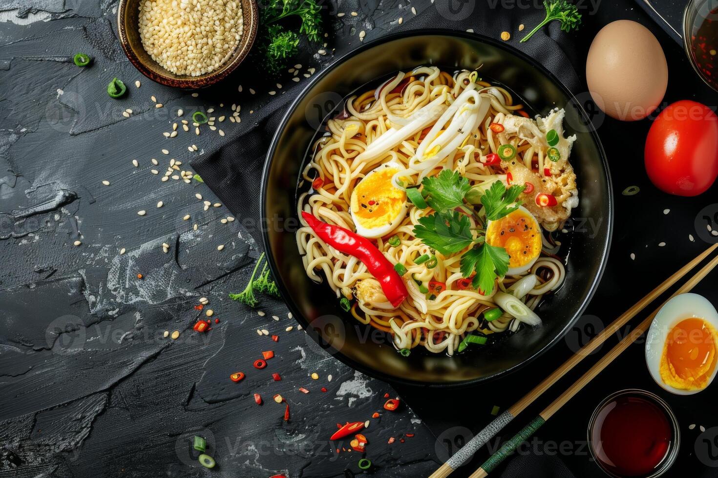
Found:
<svg viewBox="0 0 718 478"><path fill-rule="evenodd" d="M684 294L686 292L690 292L693 287L695 287L701 280L706 277L706 275L711 272L714 267L718 264L718 256L714 257L711 262L706 264L701 270L699 270L694 277L691 277L688 282L686 282L679 290L676 292L673 292L673 295L669 297L668 300L672 297L676 297L676 295ZM668 302L666 300L666 302ZM595 376L597 376L601 371L603 371L604 368L606 368L607 365L609 365L618 355L620 355L623 350L626 350L629 345L631 345L633 342L635 342L636 339L638 339L643 333L645 333L648 328L651 327L651 322L653 322L653 318L656 317L656 314L658 314L658 311L661 310L663 305L666 305L666 302L663 302L656 310L651 312L651 315L648 315L648 317L645 317L645 320L643 322L640 322L638 327L636 327L633 332L631 332L629 335L627 335L623 340L621 340L619 343L617 343L609 353L604 355L600 360L598 360L591 368L588 369L586 373L584 373L581 378L579 378L577 381L573 383L572 386L567 388L564 393L561 393L559 395L559 398L556 398L549 406L544 408L543 411L541 411L536 418L534 418L531 423L526 425L521 431L519 431L516 435L512 436L511 439L505 442L501 446L498 451L495 452L495 454L491 455L482 465L479 469L477 469L473 474L471 474L470 478L483 478L487 476L490 472L495 469L495 467L498 466L503 460L508 457L510 454L513 453L514 450L516 450L516 447L521 444L524 440L528 439L531 435L533 435L536 430L538 430L541 425L546 423L546 420L550 419L551 416L556 414L557 411L561 409L562 406L564 406L571 398L573 398L579 391L581 391L584 386L586 386L587 383L592 381Z"/></svg>

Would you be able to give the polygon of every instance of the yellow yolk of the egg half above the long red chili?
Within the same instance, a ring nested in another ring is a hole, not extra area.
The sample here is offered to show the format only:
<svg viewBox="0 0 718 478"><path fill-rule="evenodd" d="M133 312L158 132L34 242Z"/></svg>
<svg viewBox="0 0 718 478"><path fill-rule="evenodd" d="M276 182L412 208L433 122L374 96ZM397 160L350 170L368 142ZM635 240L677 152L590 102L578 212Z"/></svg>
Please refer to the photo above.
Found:
<svg viewBox="0 0 718 478"><path fill-rule="evenodd" d="M406 193L391 183L396 168L381 168L357 184L351 197L354 220L366 229L386 226L401 212Z"/></svg>

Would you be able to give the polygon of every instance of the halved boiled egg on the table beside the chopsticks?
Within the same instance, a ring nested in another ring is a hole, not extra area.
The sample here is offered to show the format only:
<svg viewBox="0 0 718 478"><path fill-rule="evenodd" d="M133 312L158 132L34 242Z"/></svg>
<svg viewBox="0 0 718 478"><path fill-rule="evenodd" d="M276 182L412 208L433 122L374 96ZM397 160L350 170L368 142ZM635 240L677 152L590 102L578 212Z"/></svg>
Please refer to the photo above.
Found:
<svg viewBox="0 0 718 478"><path fill-rule="evenodd" d="M645 363L671 393L691 395L716 376L718 312L703 296L680 294L666 302L648 329Z"/></svg>

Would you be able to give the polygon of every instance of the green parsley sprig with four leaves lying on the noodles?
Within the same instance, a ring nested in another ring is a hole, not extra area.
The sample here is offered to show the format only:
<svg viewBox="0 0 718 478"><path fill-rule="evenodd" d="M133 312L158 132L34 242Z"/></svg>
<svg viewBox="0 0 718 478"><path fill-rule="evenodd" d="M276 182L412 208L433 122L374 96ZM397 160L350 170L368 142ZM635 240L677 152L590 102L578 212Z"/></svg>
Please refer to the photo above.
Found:
<svg viewBox="0 0 718 478"><path fill-rule="evenodd" d="M414 235L442 254L456 254L470 247L460 260L462 276L474 274L472 286L490 294L496 279L508 272L510 256L503 247L486 244L482 231L472 229L467 214L473 214L473 210L464 201L467 194L476 190L466 178L449 170L424 178L421 185L426 203L435 212L419 219ZM516 211L520 205L518 196L524 188L517 185L506 188L501 181L491 184L480 196L486 219L495 221Z"/></svg>

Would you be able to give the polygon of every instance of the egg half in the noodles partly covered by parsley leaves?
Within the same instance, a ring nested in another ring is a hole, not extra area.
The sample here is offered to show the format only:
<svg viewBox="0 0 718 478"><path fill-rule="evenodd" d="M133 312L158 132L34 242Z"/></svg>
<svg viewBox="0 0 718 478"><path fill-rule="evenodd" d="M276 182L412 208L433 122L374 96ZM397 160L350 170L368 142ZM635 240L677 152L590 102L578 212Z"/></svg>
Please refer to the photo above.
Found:
<svg viewBox="0 0 718 478"><path fill-rule="evenodd" d="M486 244L503 247L510 256L506 274L523 274L541 255L541 228L523 206L486 226Z"/></svg>

